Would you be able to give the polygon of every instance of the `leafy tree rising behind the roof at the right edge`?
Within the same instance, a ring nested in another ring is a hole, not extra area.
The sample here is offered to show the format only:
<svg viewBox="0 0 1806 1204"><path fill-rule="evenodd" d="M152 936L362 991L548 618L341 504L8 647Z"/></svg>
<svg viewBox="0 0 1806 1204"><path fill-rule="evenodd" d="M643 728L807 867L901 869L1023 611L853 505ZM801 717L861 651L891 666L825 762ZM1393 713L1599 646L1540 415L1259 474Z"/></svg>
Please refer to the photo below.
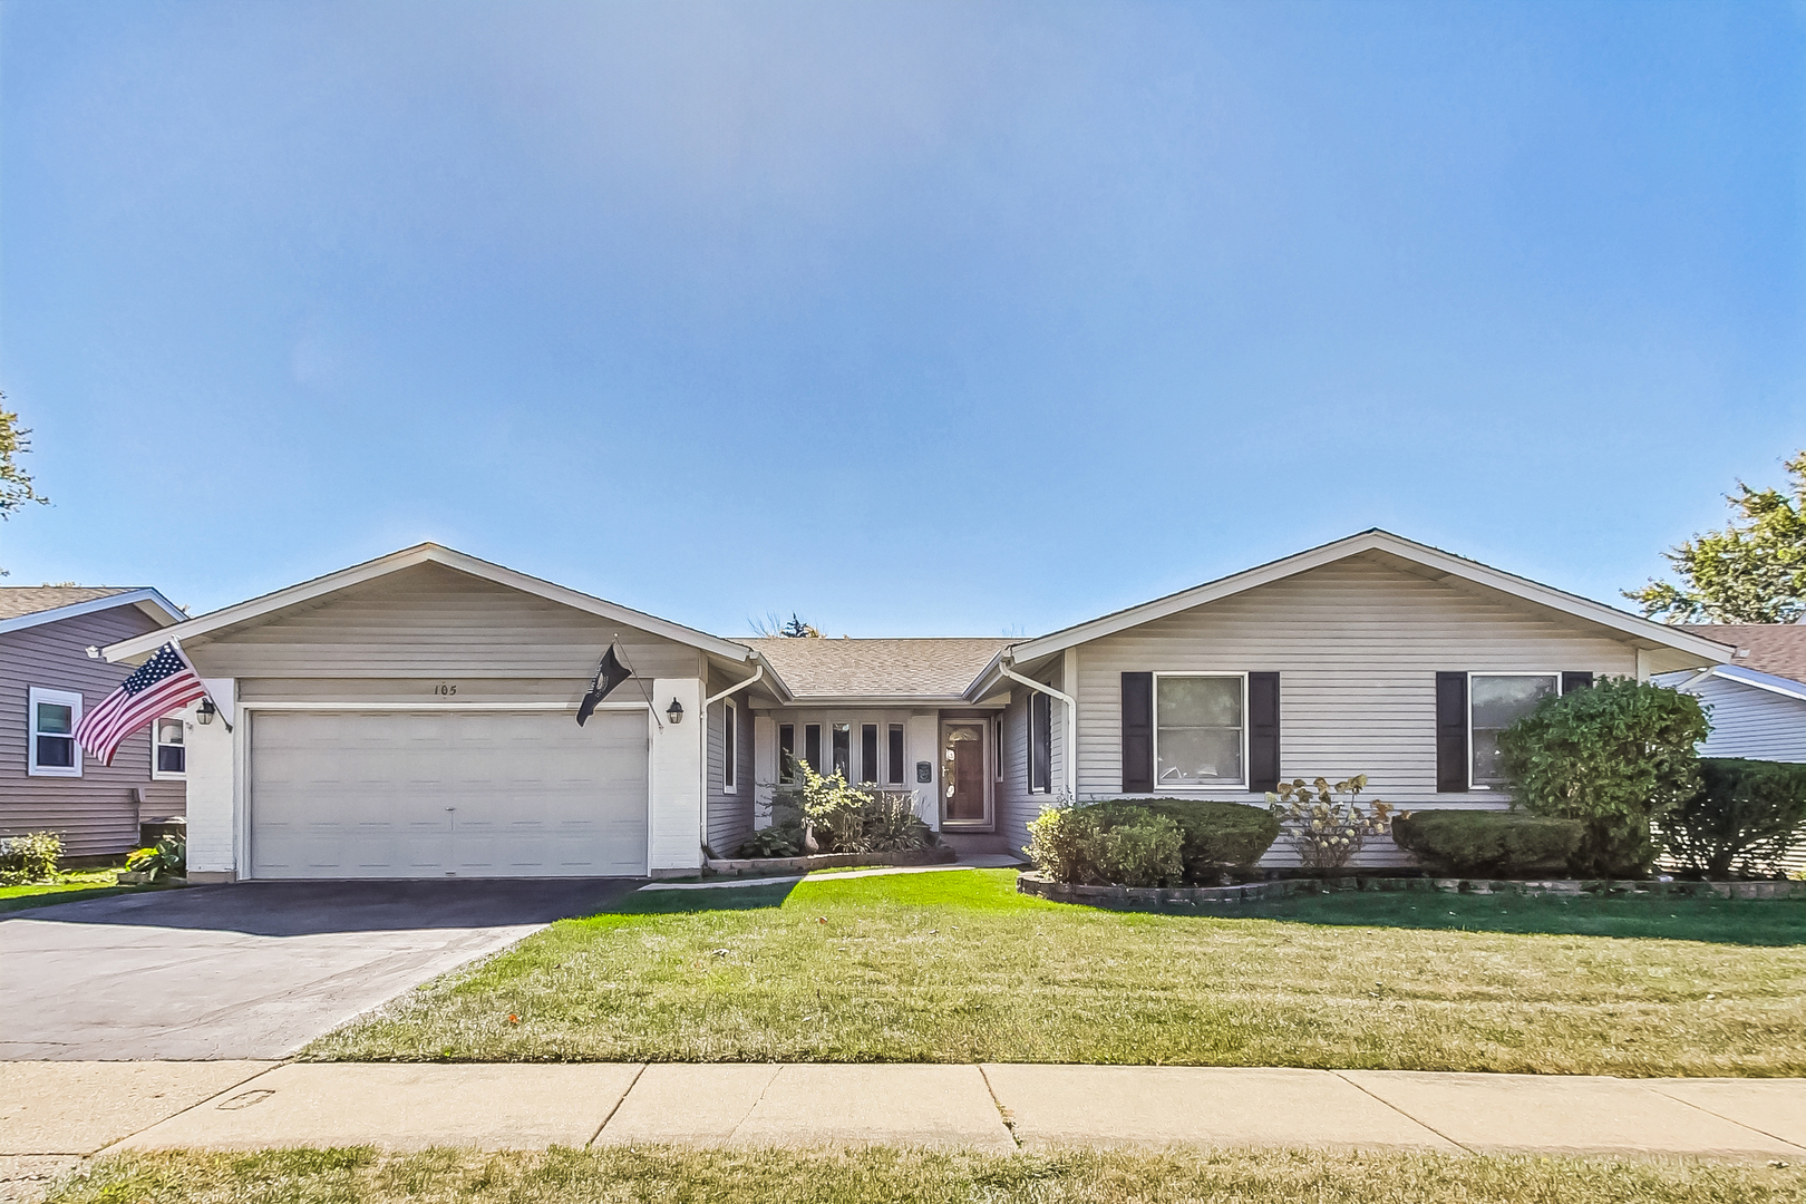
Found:
<svg viewBox="0 0 1806 1204"><path fill-rule="evenodd" d="M1799 623L1806 617L1806 449L1786 462L1788 489L1737 482L1732 520L1671 552L1681 585L1624 590L1663 623Z"/></svg>

